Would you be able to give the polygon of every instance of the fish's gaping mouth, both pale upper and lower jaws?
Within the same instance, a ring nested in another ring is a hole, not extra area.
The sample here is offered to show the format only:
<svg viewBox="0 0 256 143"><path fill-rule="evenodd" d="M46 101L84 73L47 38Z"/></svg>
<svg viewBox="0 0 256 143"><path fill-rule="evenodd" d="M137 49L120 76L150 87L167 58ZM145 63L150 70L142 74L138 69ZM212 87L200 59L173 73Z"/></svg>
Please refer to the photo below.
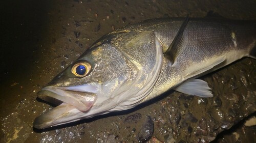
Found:
<svg viewBox="0 0 256 143"><path fill-rule="evenodd" d="M84 90L87 89L87 90ZM90 89L90 88L89 88ZM90 89L83 87L45 87L37 93L38 98L57 105L51 110L38 116L34 127L44 129L60 124L74 122L77 113L88 112L97 100Z"/></svg>

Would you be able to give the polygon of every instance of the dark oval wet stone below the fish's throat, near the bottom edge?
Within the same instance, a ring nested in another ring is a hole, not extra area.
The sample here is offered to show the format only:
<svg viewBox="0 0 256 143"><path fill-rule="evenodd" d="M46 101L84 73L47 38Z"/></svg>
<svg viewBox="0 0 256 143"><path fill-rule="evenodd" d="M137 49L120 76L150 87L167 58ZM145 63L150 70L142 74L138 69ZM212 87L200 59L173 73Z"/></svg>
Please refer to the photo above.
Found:
<svg viewBox="0 0 256 143"><path fill-rule="evenodd" d="M154 132L154 122L150 116L147 116L140 128L137 139L139 142L146 142L151 139Z"/></svg>

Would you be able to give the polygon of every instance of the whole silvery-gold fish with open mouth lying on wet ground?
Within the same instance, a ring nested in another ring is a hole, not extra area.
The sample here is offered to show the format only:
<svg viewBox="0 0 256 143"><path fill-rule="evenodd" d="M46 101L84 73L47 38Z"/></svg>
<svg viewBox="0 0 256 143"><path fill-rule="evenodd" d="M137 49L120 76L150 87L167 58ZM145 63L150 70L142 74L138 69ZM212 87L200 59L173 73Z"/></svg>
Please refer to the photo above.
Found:
<svg viewBox="0 0 256 143"><path fill-rule="evenodd" d="M245 56L255 59L256 22L159 18L133 23L97 40L38 93L55 104L36 117L44 129L122 111L175 90L210 98L198 77Z"/></svg>

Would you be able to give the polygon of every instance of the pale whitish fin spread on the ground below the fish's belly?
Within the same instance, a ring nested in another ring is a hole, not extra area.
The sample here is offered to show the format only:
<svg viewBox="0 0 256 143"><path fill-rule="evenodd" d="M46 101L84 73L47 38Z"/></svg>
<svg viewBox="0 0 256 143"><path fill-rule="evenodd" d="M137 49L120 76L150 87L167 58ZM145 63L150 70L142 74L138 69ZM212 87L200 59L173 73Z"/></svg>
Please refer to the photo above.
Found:
<svg viewBox="0 0 256 143"><path fill-rule="evenodd" d="M187 95L196 95L199 97L212 97L207 82L201 79L188 79L174 90Z"/></svg>

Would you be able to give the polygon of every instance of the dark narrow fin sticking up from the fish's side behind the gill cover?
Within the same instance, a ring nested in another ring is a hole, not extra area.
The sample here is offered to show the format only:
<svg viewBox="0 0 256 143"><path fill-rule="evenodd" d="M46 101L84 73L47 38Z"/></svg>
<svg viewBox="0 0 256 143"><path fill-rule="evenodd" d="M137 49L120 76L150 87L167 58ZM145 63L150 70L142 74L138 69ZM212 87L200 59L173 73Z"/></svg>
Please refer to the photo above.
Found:
<svg viewBox="0 0 256 143"><path fill-rule="evenodd" d="M188 23L188 20L189 20L189 17L187 15L186 19L184 20L181 27L179 28L179 31L176 34L173 42L170 44L169 48L164 52L164 56L167 59L169 59L172 64L175 62L176 56L181 50L181 46L183 44L183 33Z"/></svg>

